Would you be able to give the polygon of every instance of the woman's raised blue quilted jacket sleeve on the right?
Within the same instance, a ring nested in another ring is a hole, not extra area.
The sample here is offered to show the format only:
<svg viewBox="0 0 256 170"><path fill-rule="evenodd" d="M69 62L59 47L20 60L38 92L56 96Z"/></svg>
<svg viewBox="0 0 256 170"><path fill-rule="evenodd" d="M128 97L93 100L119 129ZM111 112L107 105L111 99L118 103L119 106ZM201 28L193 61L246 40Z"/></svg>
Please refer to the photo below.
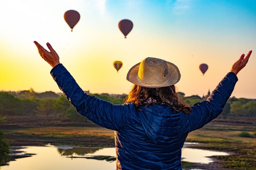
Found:
<svg viewBox="0 0 256 170"><path fill-rule="evenodd" d="M183 114L184 122L186 122L186 130L191 132L202 128L204 125L218 117L218 115L222 113L237 81L238 78L235 73L227 73L205 101L195 103L191 106L192 113Z"/></svg>

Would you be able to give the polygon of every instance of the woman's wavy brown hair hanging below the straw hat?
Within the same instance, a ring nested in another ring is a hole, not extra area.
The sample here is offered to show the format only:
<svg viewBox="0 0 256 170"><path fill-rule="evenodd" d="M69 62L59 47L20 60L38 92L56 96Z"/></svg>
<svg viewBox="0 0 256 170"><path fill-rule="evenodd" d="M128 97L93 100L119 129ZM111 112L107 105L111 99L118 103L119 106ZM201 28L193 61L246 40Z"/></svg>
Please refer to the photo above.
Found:
<svg viewBox="0 0 256 170"><path fill-rule="evenodd" d="M138 106L144 104L144 102L146 102L150 97L157 101L154 104L164 103L171 106L175 111L191 113L190 105L185 103L178 93L176 93L174 85L160 88L148 88L135 84L129 95L126 97L124 104L133 103L138 109ZM146 104L146 107L150 104L152 103Z"/></svg>

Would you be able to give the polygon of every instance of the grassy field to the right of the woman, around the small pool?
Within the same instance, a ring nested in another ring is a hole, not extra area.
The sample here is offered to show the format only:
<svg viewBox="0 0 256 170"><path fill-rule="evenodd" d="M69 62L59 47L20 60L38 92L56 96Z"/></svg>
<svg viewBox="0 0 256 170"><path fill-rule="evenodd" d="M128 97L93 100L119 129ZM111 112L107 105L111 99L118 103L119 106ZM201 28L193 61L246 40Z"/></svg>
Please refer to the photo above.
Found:
<svg viewBox="0 0 256 170"><path fill-rule="evenodd" d="M241 132L250 137L240 137ZM256 170L256 126L255 124L228 124L211 122L204 128L189 134L186 141L203 145L194 148L219 150L231 153L228 156L214 156L223 168Z"/></svg>

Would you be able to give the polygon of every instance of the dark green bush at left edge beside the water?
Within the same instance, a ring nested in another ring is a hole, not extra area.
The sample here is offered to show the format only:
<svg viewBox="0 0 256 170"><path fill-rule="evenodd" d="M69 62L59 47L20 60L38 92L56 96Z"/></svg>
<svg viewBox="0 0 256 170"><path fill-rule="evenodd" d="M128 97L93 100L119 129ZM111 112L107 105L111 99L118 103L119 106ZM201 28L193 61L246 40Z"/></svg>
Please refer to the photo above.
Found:
<svg viewBox="0 0 256 170"><path fill-rule="evenodd" d="M4 134L0 131L0 165L9 161L10 147Z"/></svg>

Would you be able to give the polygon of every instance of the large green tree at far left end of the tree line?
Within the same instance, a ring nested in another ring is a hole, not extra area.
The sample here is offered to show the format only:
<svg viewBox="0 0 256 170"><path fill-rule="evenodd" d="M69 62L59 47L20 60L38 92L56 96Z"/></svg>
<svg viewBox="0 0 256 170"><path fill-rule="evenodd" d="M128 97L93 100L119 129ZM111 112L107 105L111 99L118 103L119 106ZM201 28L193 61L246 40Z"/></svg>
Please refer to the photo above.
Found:
<svg viewBox="0 0 256 170"><path fill-rule="evenodd" d="M6 92L0 92L0 116L4 115L22 115L24 105L22 102Z"/></svg>

